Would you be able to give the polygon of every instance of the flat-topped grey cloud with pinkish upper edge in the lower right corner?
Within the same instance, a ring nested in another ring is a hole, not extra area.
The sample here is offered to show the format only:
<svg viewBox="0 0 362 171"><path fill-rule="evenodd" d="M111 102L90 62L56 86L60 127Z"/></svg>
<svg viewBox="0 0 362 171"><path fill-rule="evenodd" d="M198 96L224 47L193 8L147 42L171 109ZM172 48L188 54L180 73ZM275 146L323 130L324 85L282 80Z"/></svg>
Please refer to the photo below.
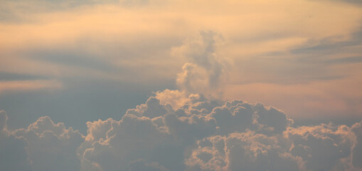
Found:
<svg viewBox="0 0 362 171"><path fill-rule="evenodd" d="M289 151L306 161L308 170L351 170L351 148L356 143L345 125L288 128Z"/></svg>

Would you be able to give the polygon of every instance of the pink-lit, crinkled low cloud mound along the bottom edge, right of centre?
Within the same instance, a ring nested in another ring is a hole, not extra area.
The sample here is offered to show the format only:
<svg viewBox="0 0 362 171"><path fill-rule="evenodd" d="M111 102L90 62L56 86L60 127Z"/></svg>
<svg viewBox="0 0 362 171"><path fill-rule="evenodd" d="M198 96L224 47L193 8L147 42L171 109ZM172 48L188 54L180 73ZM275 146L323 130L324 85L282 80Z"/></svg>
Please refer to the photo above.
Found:
<svg viewBox="0 0 362 171"><path fill-rule="evenodd" d="M282 149L277 137L250 130L199 141L186 165L190 170L305 170L302 158Z"/></svg>

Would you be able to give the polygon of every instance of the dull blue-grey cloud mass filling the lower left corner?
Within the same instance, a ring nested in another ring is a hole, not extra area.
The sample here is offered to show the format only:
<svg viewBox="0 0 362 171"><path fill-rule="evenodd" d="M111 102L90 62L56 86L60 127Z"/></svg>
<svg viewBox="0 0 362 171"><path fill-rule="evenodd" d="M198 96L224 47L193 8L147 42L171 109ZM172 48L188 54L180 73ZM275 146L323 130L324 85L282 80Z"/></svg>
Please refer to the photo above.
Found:
<svg viewBox="0 0 362 171"><path fill-rule="evenodd" d="M84 136L63 123L41 117L27 129L6 130L7 116L0 112L1 168L5 170L80 170L76 153Z"/></svg>

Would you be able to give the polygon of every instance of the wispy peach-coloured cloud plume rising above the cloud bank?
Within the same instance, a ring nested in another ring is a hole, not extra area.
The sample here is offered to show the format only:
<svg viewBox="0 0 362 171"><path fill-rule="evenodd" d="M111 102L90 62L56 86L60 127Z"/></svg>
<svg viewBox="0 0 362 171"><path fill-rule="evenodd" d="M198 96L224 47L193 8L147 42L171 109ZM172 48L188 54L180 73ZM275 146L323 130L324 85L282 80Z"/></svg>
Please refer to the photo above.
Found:
<svg viewBox="0 0 362 171"><path fill-rule="evenodd" d="M220 86L225 74L225 59L216 52L216 45L222 36L213 31L201 31L188 38L182 46L173 49L174 53L190 60L177 75L176 83L180 90L190 93L203 93L220 96Z"/></svg>

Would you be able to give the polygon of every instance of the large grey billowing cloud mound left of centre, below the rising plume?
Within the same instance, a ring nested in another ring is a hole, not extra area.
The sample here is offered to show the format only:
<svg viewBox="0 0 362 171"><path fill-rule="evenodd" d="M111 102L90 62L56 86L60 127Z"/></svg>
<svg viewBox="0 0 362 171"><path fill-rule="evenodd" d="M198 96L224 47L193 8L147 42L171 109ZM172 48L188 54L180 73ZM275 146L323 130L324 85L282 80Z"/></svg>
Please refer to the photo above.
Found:
<svg viewBox="0 0 362 171"><path fill-rule="evenodd" d="M160 105L156 98L149 98L146 104L128 110L122 120L87 123L89 131L82 147L84 165L95 165L100 170L132 170L132 163L142 160L158 163L160 168L182 170L185 148L215 133L215 119L191 113L179 117L165 108L167 105Z"/></svg>

